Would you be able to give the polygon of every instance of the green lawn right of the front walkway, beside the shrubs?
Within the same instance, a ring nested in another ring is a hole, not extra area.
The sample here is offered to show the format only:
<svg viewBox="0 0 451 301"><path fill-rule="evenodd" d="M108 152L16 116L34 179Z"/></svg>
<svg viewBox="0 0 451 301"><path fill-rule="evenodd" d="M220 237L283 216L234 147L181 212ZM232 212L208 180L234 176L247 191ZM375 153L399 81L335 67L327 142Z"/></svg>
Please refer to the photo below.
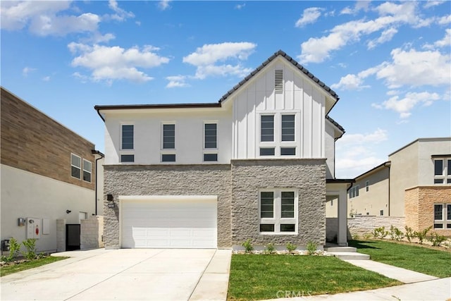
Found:
<svg viewBox="0 0 451 301"><path fill-rule="evenodd" d="M439 278L451 276L450 252L385 240L352 240L349 245L357 247L357 252L369 254L370 259L375 262L383 262Z"/></svg>

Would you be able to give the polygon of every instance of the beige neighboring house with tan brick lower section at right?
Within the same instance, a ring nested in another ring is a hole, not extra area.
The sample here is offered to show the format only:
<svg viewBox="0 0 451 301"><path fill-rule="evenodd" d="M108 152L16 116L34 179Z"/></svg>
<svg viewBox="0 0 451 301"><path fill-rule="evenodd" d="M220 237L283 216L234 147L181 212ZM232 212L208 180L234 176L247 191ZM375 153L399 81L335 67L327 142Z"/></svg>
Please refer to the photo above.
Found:
<svg viewBox="0 0 451 301"><path fill-rule="evenodd" d="M451 137L420 138L355 178L349 214L405 216L407 226L451 235Z"/></svg>

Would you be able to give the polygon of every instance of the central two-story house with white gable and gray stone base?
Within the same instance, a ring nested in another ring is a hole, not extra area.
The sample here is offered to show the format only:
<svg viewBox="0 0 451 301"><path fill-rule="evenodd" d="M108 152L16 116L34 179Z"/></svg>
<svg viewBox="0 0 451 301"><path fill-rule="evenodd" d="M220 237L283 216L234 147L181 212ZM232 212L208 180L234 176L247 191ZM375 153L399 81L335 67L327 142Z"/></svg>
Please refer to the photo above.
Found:
<svg viewBox="0 0 451 301"><path fill-rule="evenodd" d="M106 248L299 247L326 240L338 95L283 51L217 103L95 106L105 122Z"/></svg>

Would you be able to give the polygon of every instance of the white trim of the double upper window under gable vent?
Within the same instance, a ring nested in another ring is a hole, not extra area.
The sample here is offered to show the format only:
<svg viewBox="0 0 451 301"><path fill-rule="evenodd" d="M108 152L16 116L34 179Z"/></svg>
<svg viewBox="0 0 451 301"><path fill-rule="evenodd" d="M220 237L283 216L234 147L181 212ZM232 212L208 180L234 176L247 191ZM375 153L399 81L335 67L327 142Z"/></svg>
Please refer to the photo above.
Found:
<svg viewBox="0 0 451 301"><path fill-rule="evenodd" d="M261 142L261 116L274 116L274 141ZM295 141L282 141L282 115L294 115L295 116ZM257 112L257 149L255 150L257 158L299 158L301 154L301 144L299 136L299 125L301 125L301 113L295 110L286 111L258 111ZM295 155L281 155L280 148L284 147L294 147ZM274 148L273 156L261 156L260 148Z"/></svg>

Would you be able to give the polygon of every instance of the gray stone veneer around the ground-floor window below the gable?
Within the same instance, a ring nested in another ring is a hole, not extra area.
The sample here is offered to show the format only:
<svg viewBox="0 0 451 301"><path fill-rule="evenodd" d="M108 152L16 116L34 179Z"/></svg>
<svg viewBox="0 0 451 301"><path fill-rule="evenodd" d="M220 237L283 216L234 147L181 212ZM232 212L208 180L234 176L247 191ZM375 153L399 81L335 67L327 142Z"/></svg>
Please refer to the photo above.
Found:
<svg viewBox="0 0 451 301"><path fill-rule="evenodd" d="M232 160L232 244L298 246L326 240L326 159ZM259 234L259 190L294 188L298 192L298 234Z"/></svg>

